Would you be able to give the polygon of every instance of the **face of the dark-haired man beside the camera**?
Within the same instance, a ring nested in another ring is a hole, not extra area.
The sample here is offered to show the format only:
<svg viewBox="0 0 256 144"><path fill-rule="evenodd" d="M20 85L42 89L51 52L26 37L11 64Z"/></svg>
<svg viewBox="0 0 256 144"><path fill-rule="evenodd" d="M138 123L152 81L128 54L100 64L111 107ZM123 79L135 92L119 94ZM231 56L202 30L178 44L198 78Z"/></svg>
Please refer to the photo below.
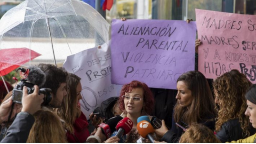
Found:
<svg viewBox="0 0 256 144"><path fill-rule="evenodd" d="M51 93L51 94L53 95L53 93ZM66 83L61 83L60 87L58 88L58 90L56 92L56 95L53 95L50 105L54 108L61 107L63 97L66 97L67 94L68 93L66 91Z"/></svg>

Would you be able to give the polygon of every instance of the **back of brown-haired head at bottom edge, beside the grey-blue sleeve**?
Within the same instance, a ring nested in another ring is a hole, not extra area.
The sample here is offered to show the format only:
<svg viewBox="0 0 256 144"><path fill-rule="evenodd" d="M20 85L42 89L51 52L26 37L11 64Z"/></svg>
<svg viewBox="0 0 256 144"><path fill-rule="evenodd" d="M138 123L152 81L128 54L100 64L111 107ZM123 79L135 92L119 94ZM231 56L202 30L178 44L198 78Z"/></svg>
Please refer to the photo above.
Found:
<svg viewBox="0 0 256 144"><path fill-rule="evenodd" d="M51 111L39 110L34 117L35 123L30 130L27 142L67 142L60 119Z"/></svg>

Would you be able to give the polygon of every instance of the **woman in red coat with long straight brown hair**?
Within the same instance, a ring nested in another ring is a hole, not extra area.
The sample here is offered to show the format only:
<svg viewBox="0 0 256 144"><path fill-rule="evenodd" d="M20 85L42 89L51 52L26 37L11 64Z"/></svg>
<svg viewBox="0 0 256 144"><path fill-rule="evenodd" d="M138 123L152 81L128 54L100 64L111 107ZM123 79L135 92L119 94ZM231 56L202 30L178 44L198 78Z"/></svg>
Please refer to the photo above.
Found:
<svg viewBox="0 0 256 144"><path fill-rule="evenodd" d="M86 116L79 107L79 100L82 99L80 80L78 76L68 74L66 85L68 96L63 98L61 107L55 110L66 130L68 142L85 142L90 136Z"/></svg>

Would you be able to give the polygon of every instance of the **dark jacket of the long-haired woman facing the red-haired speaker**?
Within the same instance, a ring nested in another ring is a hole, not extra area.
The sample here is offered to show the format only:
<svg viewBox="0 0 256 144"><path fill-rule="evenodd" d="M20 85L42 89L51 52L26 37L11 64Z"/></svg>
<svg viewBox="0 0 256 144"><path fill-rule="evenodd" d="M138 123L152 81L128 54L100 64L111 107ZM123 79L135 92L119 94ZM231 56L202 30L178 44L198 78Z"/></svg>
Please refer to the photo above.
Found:
<svg viewBox="0 0 256 144"><path fill-rule="evenodd" d="M203 124L207 126L209 129L214 131L215 129L215 117L214 116L206 116L205 121L199 121L199 124ZM187 128L187 127L185 127ZM163 136L163 138L160 141L165 141L165 142L179 142L181 135L183 134L183 129L178 127L175 124L174 118L172 118L172 129L166 132Z"/></svg>

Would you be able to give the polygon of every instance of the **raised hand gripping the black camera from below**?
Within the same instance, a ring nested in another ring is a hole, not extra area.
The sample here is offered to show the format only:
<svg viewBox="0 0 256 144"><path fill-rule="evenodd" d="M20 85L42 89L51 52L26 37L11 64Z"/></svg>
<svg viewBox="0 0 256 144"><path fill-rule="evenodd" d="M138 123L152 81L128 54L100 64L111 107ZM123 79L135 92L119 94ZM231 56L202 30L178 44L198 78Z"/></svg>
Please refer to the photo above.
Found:
<svg viewBox="0 0 256 144"><path fill-rule="evenodd" d="M44 102L44 94L38 95L39 88L37 85L34 86L35 90L33 93L28 94L28 89L26 86L23 87L23 97L22 97L22 109L21 111L27 112L31 115L36 113L41 109L41 104Z"/></svg>

